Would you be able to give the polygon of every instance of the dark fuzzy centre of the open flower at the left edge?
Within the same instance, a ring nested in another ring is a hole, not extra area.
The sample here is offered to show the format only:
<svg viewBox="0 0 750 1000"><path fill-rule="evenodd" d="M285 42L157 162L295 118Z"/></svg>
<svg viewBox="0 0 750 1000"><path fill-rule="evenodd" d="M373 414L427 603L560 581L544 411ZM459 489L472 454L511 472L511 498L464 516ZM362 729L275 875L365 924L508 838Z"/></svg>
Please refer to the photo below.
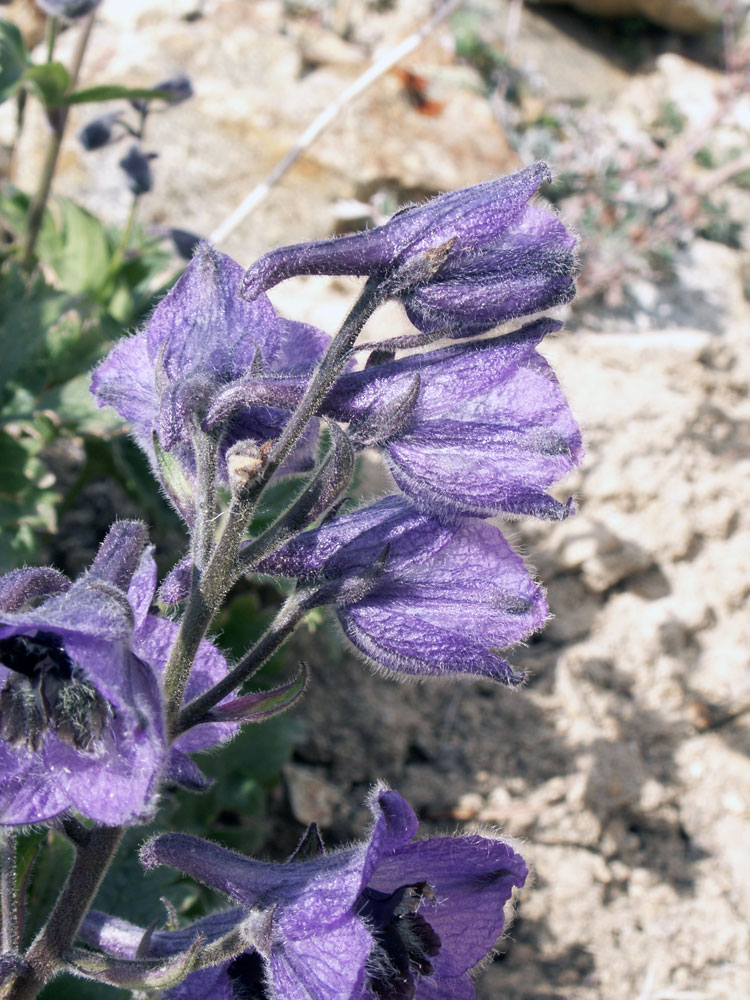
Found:
<svg viewBox="0 0 750 1000"><path fill-rule="evenodd" d="M0 663L13 671L0 690L2 739L36 752L53 730L75 750L101 750L114 710L65 652L60 636L37 632L0 639Z"/></svg>

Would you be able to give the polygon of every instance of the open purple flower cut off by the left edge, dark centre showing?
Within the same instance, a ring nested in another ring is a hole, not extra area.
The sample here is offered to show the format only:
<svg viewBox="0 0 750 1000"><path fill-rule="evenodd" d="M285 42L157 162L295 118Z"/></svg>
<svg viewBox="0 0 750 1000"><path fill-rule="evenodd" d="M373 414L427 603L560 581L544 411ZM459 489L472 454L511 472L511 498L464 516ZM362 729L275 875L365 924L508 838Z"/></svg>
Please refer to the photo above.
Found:
<svg viewBox="0 0 750 1000"><path fill-rule="evenodd" d="M69 809L105 825L153 812L159 784L205 784L189 752L236 730L209 723L168 749L159 676L177 626L149 614L146 532L121 521L74 583L48 569L0 580L0 823ZM190 700L226 673L204 643Z"/></svg>

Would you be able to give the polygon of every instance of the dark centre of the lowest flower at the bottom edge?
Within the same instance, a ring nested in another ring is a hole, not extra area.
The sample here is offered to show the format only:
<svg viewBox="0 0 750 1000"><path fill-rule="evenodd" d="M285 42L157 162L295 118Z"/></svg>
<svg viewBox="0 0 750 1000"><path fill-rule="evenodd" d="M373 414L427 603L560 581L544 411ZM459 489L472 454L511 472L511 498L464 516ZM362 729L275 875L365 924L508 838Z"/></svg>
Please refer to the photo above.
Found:
<svg viewBox="0 0 750 1000"><path fill-rule="evenodd" d="M433 974L431 958L440 938L417 913L422 899L434 899L427 882L403 885L388 895L365 889L357 913L372 927L380 949L370 963L370 989L381 1000L412 1000L421 976Z"/></svg>

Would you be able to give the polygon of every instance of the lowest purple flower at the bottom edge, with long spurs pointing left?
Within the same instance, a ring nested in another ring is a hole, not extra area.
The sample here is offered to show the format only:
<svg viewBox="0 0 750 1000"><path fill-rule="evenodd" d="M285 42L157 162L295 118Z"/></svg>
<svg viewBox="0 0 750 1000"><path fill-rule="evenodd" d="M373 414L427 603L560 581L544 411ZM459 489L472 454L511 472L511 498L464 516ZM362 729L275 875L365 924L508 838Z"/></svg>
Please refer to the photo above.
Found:
<svg viewBox="0 0 750 1000"><path fill-rule="evenodd" d="M477 834L414 841L414 812L382 786L370 808L366 841L332 853L320 845L285 864L158 836L142 851L148 867L179 868L239 906L152 933L145 946L141 929L92 913L83 937L119 958L160 958L199 932L210 943L232 924L242 929L243 952L191 974L168 1000L471 1000L471 970L502 933L504 906L526 879L523 859Z"/></svg>

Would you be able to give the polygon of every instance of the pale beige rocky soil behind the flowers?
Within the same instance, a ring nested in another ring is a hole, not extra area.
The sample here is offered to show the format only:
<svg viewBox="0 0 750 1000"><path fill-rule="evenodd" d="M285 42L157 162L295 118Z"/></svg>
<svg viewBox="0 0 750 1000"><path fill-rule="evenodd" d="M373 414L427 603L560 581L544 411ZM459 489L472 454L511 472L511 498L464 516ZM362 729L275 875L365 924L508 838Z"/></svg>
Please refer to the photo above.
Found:
<svg viewBox="0 0 750 1000"><path fill-rule="evenodd" d="M688 186L707 177L693 159L699 147L747 157L750 99L722 105L726 79L708 41L641 35L633 69L601 22L535 5L507 36L508 4L466 6L477 35L506 45L530 81L516 117L477 65L457 58L455 29L444 26L406 64L435 113L419 113L403 76L386 74L224 249L248 264L278 242L378 221L404 198L512 169L519 148L529 158L518 116L528 126L560 102L601 123L582 176L606 168L602 137L620 149L664 142L654 129L665 94L684 119L669 151ZM108 0L87 77L145 85L185 71L196 89L150 133L159 160L145 217L210 233L428 8L207 0L202 17L186 19L195 2ZM33 158L39 132L24 141ZM83 154L71 139L61 190L121 221L123 152ZM674 176L650 186L668 189ZM332 634L297 641L314 682L269 850L284 847L290 818L291 839L312 819L333 841L361 833L360 803L376 778L403 792L429 830L517 838L535 874L480 977L483 1000L736 1000L750 985L750 205L736 179L711 179L721 217L734 223L731 245L678 225L668 278L641 271L617 296L590 297L544 349L587 457L559 489L575 494L574 518L504 526L546 582L555 616L515 652L527 687L397 685L342 653ZM584 258L595 251L584 246ZM355 289L299 280L274 298L333 329ZM392 309L373 332L400 325ZM387 488L375 472L368 481Z"/></svg>

